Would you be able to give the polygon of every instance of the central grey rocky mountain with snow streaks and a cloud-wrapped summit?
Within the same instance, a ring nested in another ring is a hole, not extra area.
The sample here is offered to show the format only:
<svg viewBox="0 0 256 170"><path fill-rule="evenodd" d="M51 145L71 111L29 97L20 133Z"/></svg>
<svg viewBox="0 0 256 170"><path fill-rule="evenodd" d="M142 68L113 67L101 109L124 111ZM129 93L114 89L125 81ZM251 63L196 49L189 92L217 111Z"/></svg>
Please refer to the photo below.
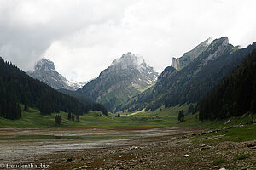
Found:
<svg viewBox="0 0 256 170"><path fill-rule="evenodd" d="M99 77L88 82L79 92L102 103L108 109L113 109L131 96L142 92L154 83L157 77L158 73L148 66L142 57L129 52L119 59L114 59Z"/></svg>

